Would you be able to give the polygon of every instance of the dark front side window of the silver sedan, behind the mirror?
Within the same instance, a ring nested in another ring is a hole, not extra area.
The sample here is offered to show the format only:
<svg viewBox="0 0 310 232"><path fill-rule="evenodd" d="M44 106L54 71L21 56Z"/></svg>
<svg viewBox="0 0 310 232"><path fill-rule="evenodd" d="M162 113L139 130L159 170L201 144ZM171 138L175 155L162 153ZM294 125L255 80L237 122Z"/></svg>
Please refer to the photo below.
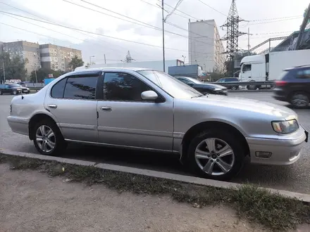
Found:
<svg viewBox="0 0 310 232"><path fill-rule="evenodd" d="M107 101L142 101L141 94L152 90L137 77L122 72L104 74L104 100Z"/></svg>

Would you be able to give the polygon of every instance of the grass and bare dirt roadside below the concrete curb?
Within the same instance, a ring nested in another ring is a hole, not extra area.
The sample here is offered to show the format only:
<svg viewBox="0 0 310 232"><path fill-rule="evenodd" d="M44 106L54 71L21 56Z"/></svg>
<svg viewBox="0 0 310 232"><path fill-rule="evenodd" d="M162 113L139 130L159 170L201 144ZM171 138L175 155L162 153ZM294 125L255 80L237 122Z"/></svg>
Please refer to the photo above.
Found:
<svg viewBox="0 0 310 232"><path fill-rule="evenodd" d="M6 215L0 217L1 225L2 220L4 222L10 221L15 214L18 215L16 220L22 220L20 223L23 226L29 223L32 225L31 228L35 228L35 230L37 230L37 227L33 226L41 225L41 222L37 220L51 221L47 224L50 226L60 224L63 226L65 223L66 226L69 226L71 221L75 220L78 223L76 222L72 226L83 226L89 223L89 220L95 220L94 223L99 224L101 223L100 220L104 221L105 219L108 220L106 225L116 224L116 221L119 220L120 224L123 222L128 223L128 225L124 224L124 226L131 226L133 222L135 222L136 226L142 226L144 224L142 224L141 219L144 219L154 223L151 224L152 226L159 226L150 231L167 231L166 228L169 227L166 224L168 223L170 223L171 231L212 231L212 229L213 231L223 231L223 229L244 231L244 228L247 231L261 231L263 230L262 226L283 231L310 222L309 205L292 198L271 194L254 186L242 186L235 189L199 186L139 174L12 155L0 154L0 162L6 164L0 165L0 184L3 186L0 189L0 195L4 196L4 202L0 202L0 205L1 210L4 210ZM12 172L9 167L25 171ZM30 171L30 169L41 173ZM49 177L46 177L42 172L48 174ZM55 178L51 179L53 176ZM82 184L73 182L82 182ZM84 192L81 192L80 188ZM96 195L93 195L93 198L90 198L92 194L89 195L88 192L85 192L87 188L95 190ZM114 194L113 198L115 200L111 200L112 197L106 199L105 194L108 193L110 195ZM68 198L67 195L71 198ZM99 202L90 204L89 199L94 200L94 202L99 200ZM134 202L126 207L125 204L128 199L134 199ZM153 203L146 205L147 203L144 203L143 199ZM123 202L123 205L119 202ZM156 202L159 203L159 208L156 208ZM189 205L184 205L184 202L189 203ZM120 208L123 209L122 212L113 212L114 208L118 209L119 204ZM109 206L110 208L102 207L102 205L107 205L106 207ZM202 211L196 211L193 208ZM16 211L10 212L11 209ZM171 209L175 211L171 212ZM22 217L19 213L23 212L23 210L25 210L25 216ZM31 210L33 210L32 217L29 216ZM101 216L99 215L100 212ZM109 214L105 212L109 212ZM117 217L118 214L123 215L125 218ZM156 217L149 219L152 216L148 215L152 214ZM4 215L4 213L1 215ZM87 215L87 219L84 219L82 215ZM135 217L132 217L132 215ZM99 216L102 219L98 219ZM223 218L223 216L225 217ZM190 221L187 221L188 219ZM61 220L61 222L57 222L57 220ZM223 221L228 221L228 224ZM212 224L210 224L211 222ZM213 227L209 227L213 224ZM261 226L258 226L258 224ZM242 225L245 225L244 228ZM145 230L145 228L139 226L128 228L132 231ZM309 226L305 228L309 229ZM41 228L39 229L41 231ZM46 230L46 227L44 227L44 230ZM49 230L47 228L47 230L55 231L57 229L53 227L53 229ZM64 229L64 231L68 230L70 231L69 227ZM118 231L119 228L115 228L115 230ZM130 230L126 229L126 231ZM20 228L17 231L27 230Z"/></svg>

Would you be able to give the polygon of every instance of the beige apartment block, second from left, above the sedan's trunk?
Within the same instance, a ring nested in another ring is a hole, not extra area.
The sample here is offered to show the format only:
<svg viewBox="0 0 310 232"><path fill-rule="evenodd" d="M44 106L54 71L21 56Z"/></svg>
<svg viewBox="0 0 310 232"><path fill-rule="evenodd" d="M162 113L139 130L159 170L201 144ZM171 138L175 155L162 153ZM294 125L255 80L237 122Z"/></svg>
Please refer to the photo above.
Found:
<svg viewBox="0 0 310 232"><path fill-rule="evenodd" d="M39 46L42 67L51 70L70 71L72 58L82 58L82 52L54 44L42 44Z"/></svg>

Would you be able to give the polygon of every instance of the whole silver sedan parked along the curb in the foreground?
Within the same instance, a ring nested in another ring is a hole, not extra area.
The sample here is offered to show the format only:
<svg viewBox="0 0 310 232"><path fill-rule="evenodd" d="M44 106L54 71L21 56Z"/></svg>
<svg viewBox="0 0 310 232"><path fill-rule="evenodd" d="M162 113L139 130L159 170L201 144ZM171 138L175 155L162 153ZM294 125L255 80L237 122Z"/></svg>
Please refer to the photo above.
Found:
<svg viewBox="0 0 310 232"><path fill-rule="evenodd" d="M246 156L290 165L308 141L289 108L204 96L142 68L69 72L36 94L14 97L7 120L43 155L61 155L68 142L177 153L200 176L220 180L235 176Z"/></svg>

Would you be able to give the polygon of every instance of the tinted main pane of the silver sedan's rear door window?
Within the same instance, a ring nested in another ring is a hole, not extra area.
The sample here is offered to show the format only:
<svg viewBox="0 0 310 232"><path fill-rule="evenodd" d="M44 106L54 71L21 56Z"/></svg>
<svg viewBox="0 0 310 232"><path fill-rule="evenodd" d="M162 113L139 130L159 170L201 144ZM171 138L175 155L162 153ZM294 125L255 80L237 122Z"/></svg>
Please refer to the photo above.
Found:
<svg viewBox="0 0 310 232"><path fill-rule="evenodd" d="M94 99L98 77L68 77L63 98Z"/></svg>

